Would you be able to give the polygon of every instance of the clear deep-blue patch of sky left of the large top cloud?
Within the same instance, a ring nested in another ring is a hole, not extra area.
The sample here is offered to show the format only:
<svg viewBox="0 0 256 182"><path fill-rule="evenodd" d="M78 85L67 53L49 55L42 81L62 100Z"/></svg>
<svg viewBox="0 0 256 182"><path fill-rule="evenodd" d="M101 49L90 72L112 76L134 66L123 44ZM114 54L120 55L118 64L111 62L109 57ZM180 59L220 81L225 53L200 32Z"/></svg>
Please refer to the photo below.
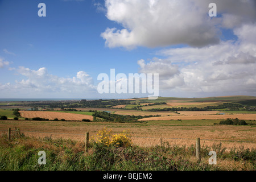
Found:
<svg viewBox="0 0 256 182"><path fill-rule="evenodd" d="M97 76L115 67L120 72L134 72L129 64L136 63L150 51L126 51L104 46L101 32L106 27L118 24L97 13L92 1L44 1L47 16L39 17L38 3L41 1L3 1L1 5L1 52L6 60L30 69L47 67L61 77L73 76L86 70ZM99 65L102 65L100 67ZM58 69L59 68L59 69ZM137 71L135 69L135 71Z"/></svg>

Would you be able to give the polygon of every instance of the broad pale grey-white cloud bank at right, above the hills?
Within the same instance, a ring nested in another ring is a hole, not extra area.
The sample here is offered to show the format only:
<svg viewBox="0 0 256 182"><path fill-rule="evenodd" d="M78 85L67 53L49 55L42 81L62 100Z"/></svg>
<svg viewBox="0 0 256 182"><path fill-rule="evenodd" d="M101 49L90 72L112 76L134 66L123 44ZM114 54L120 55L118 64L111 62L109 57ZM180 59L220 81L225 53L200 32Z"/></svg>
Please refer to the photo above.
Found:
<svg viewBox="0 0 256 182"><path fill-rule="evenodd" d="M164 85L177 93L256 93L256 24L244 24L234 29L236 42L228 40L203 48L181 47L159 51L168 61L154 60L146 65L139 61L142 69L155 69L180 79L184 84L170 85L162 78ZM250 39L251 38L251 39ZM176 65L177 72L173 72ZM179 67L177 68L177 65ZM160 78L160 77L159 77ZM182 79L182 80L181 80Z"/></svg>

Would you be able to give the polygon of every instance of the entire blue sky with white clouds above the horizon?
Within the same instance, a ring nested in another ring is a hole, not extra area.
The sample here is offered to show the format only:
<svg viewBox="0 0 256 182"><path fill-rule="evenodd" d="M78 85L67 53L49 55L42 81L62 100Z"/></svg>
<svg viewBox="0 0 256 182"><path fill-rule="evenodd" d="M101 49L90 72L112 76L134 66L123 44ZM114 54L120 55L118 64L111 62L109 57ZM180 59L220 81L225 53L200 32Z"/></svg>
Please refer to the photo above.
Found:
<svg viewBox="0 0 256 182"><path fill-rule="evenodd" d="M148 96L98 93L110 69L158 73L162 97L256 96L255 9L254 0L0 0L0 98Z"/></svg>

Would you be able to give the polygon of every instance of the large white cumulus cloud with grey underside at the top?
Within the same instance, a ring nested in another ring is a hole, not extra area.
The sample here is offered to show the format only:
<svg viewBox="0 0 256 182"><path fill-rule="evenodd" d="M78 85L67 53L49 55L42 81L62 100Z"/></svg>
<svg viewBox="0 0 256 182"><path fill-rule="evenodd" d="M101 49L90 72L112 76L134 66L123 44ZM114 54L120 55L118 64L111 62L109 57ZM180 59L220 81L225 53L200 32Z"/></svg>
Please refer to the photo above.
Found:
<svg viewBox="0 0 256 182"><path fill-rule="evenodd" d="M208 16L212 2L222 16ZM123 27L108 27L102 32L110 48L175 44L203 47L220 42L221 28L240 27L256 20L254 0L106 0L105 7L106 17Z"/></svg>

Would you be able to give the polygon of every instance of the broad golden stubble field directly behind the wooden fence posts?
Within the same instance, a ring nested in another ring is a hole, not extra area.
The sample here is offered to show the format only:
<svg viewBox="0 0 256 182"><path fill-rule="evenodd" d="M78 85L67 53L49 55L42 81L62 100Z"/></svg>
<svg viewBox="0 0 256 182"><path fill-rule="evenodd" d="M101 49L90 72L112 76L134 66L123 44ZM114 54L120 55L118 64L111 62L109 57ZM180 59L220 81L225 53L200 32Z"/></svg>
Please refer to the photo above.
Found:
<svg viewBox="0 0 256 182"><path fill-rule="evenodd" d="M177 144L178 146L191 146L195 139L200 138L202 145L211 146L213 143L222 143L222 146L231 149L256 148L256 127L253 126L226 126L213 125L212 122L201 121L201 125L194 122L179 125L169 122L151 123L109 123L109 122L61 122L61 121L1 121L0 133L6 133L7 128L19 128L22 133L34 137L71 138L84 140L85 133L90 138L98 130L112 129L114 133L123 130L130 131L134 144L139 146L153 146L160 143L160 139Z"/></svg>

